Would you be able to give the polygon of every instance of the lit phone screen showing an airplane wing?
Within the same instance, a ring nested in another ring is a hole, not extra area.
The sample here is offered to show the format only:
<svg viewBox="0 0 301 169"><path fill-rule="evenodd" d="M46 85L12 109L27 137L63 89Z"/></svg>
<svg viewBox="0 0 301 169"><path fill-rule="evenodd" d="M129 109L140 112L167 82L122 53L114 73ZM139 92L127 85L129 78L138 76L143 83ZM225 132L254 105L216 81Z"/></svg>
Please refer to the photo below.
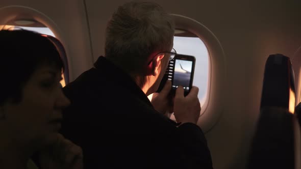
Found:
<svg viewBox="0 0 301 169"><path fill-rule="evenodd" d="M175 60L172 80L173 89L178 88L178 86L183 86L185 91L189 91L192 65L192 61Z"/></svg>

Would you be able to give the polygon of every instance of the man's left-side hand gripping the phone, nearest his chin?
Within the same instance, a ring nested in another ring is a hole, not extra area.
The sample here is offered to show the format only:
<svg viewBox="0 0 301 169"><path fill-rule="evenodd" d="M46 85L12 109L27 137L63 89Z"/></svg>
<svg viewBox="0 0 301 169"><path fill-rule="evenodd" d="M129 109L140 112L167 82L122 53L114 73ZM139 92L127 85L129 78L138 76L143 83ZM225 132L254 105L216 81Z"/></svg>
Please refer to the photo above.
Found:
<svg viewBox="0 0 301 169"><path fill-rule="evenodd" d="M152 104L154 108L161 114L170 117L173 112L173 102L169 93L171 91L171 81L167 80L164 88L160 93L154 93L152 98Z"/></svg>

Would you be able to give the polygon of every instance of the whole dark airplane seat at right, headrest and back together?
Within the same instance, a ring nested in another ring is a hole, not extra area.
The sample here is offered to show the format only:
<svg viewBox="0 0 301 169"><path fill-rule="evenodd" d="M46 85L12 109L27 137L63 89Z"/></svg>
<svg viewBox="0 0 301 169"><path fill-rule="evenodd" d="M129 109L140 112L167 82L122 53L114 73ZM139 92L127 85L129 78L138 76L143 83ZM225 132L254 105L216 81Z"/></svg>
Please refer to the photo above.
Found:
<svg viewBox="0 0 301 169"><path fill-rule="evenodd" d="M295 168L294 91L290 59L282 54L269 55L248 168Z"/></svg>

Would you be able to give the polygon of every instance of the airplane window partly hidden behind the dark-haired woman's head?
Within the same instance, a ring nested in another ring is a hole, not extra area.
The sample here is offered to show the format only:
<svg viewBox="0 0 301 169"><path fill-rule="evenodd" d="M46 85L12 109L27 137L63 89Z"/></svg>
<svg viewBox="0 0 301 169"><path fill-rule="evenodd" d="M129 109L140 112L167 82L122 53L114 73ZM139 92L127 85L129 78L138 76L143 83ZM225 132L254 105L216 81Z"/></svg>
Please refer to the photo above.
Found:
<svg viewBox="0 0 301 169"><path fill-rule="evenodd" d="M0 25L0 30L13 31L13 30L19 30L19 29L33 31L33 32L37 32L40 34L45 34L45 35L50 35L50 36L56 37L54 35L54 33L47 26L45 26L44 24L42 24L38 21L35 21L35 20L13 20L13 21L9 21L6 25ZM65 61L67 61L67 58L65 57L62 59L65 64ZM65 66L65 69L68 69L68 67ZM68 72L68 70L65 72ZM65 79L65 75L66 75L65 72L62 73L62 80L60 81L62 87L65 87L66 82L68 82L68 80Z"/></svg>

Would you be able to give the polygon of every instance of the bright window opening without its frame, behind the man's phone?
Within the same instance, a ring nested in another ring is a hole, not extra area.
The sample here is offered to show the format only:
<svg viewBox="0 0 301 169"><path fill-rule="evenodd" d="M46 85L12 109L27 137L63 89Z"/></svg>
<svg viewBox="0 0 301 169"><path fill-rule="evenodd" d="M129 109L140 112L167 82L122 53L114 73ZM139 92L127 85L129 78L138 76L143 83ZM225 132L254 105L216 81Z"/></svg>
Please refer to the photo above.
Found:
<svg viewBox="0 0 301 169"><path fill-rule="evenodd" d="M207 47L196 35L183 30L175 30L173 48L179 54L195 57L193 86L198 87L198 99L203 106L208 89L209 55Z"/></svg>

